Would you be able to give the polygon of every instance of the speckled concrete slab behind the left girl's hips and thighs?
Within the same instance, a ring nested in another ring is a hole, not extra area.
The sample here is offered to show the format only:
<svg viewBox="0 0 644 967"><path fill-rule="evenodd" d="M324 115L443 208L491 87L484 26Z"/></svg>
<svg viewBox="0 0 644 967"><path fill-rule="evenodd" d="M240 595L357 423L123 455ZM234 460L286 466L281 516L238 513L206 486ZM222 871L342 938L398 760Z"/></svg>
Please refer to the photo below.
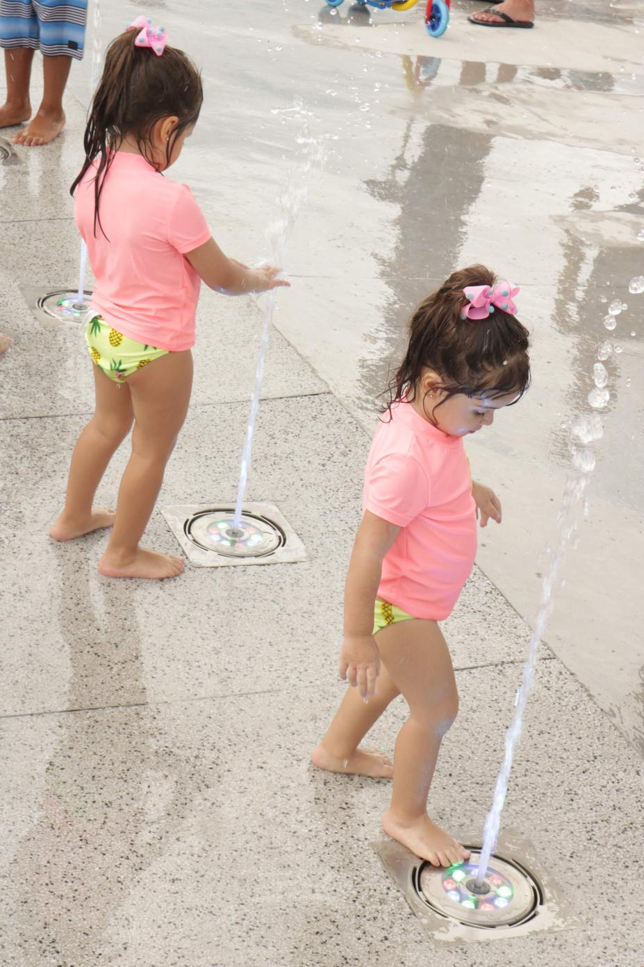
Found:
<svg viewBox="0 0 644 967"><path fill-rule="evenodd" d="M47 252L45 260L56 257L54 253L64 253L62 263L67 269L61 268L56 275L49 268L49 275L40 278L43 291L48 287L76 284L71 267L75 266L77 273L79 236L72 221L21 222L10 225L9 229L16 245L30 240L27 246L33 253L30 257L39 264L42 264L43 251ZM50 249L53 249L51 254ZM14 340L8 355L0 361L3 376L0 417L91 413L93 366L80 327L34 318L21 286L37 285L39 279L20 269L19 263L16 256L13 269L0 269L0 332L6 332ZM88 271L86 288L91 286ZM280 298L284 301L288 295ZM202 287L193 349L193 405L250 399L264 311L261 299L225 297ZM277 317L278 312L274 318ZM262 396L326 392L326 384L275 327L271 327Z"/></svg>

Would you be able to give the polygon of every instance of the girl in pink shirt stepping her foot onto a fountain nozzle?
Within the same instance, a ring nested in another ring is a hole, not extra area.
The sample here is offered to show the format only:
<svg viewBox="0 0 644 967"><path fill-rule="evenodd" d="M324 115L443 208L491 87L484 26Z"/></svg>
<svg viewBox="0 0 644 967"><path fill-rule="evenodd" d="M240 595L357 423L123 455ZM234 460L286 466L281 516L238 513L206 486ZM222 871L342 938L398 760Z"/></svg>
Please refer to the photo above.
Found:
<svg viewBox="0 0 644 967"><path fill-rule="evenodd" d="M490 425L530 382L518 292L475 265L455 272L416 309L392 401L366 464L364 515L346 578L340 677L347 689L311 753L337 773L394 777L386 833L434 865L468 859L427 815L441 740L454 721L454 668L438 622L472 570L477 517L501 522L489 487L472 482L463 437ZM360 747L396 695L409 718L394 764Z"/></svg>

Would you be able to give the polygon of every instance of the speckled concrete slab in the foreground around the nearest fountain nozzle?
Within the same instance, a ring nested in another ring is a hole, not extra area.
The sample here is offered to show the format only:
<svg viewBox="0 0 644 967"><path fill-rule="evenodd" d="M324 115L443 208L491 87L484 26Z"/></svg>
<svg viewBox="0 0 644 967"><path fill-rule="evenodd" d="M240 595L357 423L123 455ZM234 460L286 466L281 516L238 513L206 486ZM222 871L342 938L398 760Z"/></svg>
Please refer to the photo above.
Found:
<svg viewBox="0 0 644 967"><path fill-rule="evenodd" d="M430 797L454 835L482 827L517 672L458 673L461 713ZM4 719L3 963L433 962L436 949L370 847L389 783L307 764L339 693L287 686ZM369 738L391 749L403 718L396 702ZM583 929L441 947L441 962L639 967L638 795L632 750L559 662L542 662L504 824L525 831ZM610 903L599 901L604 879Z"/></svg>

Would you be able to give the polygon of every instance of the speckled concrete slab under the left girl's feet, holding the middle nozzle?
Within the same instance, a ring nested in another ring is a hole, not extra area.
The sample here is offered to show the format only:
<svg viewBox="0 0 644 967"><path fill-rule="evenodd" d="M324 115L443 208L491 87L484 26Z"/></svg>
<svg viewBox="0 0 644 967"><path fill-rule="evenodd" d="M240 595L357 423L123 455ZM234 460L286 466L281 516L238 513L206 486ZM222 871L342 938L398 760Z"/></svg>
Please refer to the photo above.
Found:
<svg viewBox="0 0 644 967"><path fill-rule="evenodd" d="M160 505L234 500L246 420L246 405L194 407ZM278 506L304 542L306 562L188 565L180 578L159 583L99 575L104 533L65 544L47 537L83 423L79 417L6 423L5 713L221 695L240 682L244 689L274 689L284 675L300 685L334 677L369 444L345 410L331 396L267 400L260 408L247 496ZM126 444L98 506L113 506L127 457ZM145 544L179 551L159 511ZM457 667L523 659L528 630L480 572L447 624Z"/></svg>

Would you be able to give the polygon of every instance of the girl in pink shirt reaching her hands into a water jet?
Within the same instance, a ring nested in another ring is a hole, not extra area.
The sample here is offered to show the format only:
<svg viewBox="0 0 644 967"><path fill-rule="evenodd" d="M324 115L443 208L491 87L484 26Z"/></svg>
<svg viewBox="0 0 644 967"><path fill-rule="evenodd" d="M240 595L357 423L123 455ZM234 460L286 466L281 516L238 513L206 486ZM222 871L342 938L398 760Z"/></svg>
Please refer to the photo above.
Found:
<svg viewBox="0 0 644 967"><path fill-rule="evenodd" d="M165 31L138 17L109 45L72 186L75 219L96 287L86 339L96 411L73 451L57 541L113 529L99 570L109 577L173 577L181 557L139 546L190 401L194 316L201 280L229 295L288 284L249 269L211 237L186 185L162 173L197 122L201 78ZM116 513L93 508L107 464L132 430Z"/></svg>

